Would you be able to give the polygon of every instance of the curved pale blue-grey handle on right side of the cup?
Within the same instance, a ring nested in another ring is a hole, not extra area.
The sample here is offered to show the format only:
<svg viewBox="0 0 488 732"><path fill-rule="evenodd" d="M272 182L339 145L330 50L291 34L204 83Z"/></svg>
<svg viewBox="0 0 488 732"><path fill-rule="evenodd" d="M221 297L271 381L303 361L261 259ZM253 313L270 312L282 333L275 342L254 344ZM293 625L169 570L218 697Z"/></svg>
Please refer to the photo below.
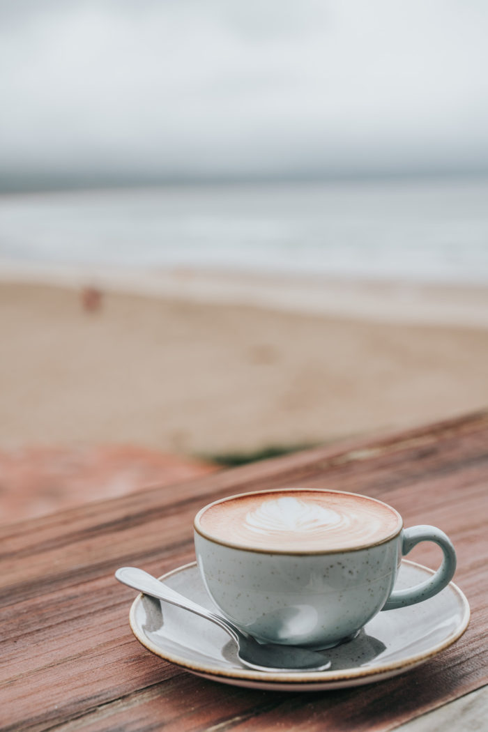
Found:
<svg viewBox="0 0 488 732"><path fill-rule="evenodd" d="M416 602L428 600L429 597L444 589L456 571L456 552L450 539L443 531L435 526L412 526L405 529L402 536L402 556L408 554L419 542L435 542L443 550L443 561L435 575L419 585L405 590L393 590L383 605L382 610L405 608L406 605L415 605Z"/></svg>

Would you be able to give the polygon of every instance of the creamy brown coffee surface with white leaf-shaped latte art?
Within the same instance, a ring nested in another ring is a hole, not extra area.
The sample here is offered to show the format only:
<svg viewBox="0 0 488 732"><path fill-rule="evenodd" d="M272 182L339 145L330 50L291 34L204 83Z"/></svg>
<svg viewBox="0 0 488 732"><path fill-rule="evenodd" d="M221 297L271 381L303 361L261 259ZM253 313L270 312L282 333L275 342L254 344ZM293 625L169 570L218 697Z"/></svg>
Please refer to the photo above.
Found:
<svg viewBox="0 0 488 732"><path fill-rule="evenodd" d="M200 514L200 526L215 539L261 550L355 548L383 541L401 525L380 501L326 490L250 493Z"/></svg>

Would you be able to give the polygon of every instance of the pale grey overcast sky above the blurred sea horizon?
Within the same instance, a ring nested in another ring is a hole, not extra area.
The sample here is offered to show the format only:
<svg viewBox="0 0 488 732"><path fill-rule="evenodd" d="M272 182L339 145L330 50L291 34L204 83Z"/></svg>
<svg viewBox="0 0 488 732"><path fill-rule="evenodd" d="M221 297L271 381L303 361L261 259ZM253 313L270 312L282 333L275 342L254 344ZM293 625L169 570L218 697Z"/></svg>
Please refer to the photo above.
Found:
<svg viewBox="0 0 488 732"><path fill-rule="evenodd" d="M0 0L0 184L488 170L486 0Z"/></svg>

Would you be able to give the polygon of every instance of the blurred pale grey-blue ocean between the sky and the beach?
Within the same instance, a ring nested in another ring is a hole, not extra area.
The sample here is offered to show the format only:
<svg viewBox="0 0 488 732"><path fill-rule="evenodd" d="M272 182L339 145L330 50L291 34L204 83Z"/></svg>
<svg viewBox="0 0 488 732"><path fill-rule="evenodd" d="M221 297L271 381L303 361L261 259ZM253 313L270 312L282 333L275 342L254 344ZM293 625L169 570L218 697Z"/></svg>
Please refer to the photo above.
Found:
<svg viewBox="0 0 488 732"><path fill-rule="evenodd" d="M488 179L3 195L12 264L487 285Z"/></svg>

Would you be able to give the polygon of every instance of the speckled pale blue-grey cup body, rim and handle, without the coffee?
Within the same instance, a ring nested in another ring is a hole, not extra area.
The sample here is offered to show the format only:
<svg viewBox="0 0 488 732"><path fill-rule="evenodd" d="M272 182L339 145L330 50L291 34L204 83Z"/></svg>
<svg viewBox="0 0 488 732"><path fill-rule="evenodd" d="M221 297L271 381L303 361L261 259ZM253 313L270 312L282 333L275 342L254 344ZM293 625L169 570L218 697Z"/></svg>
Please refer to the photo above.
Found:
<svg viewBox="0 0 488 732"><path fill-rule="evenodd" d="M240 630L259 641L327 648L353 638L380 610L427 600L454 575L456 554L446 534L434 526L403 529L400 515L367 496L375 509L396 515L394 528L374 542L350 548L320 546L272 549L222 541L202 526L204 513L216 504L255 496L263 501L294 496L314 504L329 494L334 501L356 494L326 490L267 490L229 496L204 507L195 517L195 552L203 583L221 612ZM225 509L225 506L222 506ZM418 542L432 541L443 550L443 562L432 578L411 589L394 591L402 556Z"/></svg>

